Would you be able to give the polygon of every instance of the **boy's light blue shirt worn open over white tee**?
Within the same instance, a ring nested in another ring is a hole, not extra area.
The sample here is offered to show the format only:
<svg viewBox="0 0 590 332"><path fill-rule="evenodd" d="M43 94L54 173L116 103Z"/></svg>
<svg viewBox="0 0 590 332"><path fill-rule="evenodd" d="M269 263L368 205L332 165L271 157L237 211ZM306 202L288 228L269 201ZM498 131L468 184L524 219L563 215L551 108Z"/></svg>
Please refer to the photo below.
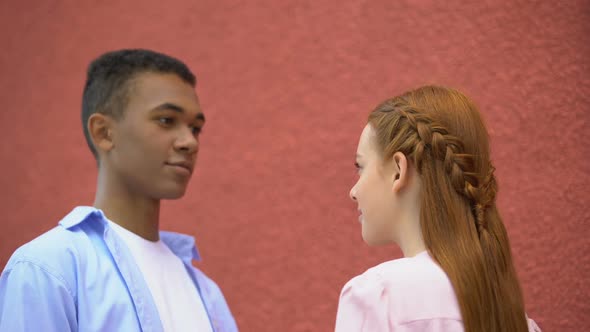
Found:
<svg viewBox="0 0 590 332"><path fill-rule="evenodd" d="M215 282L192 265L194 239L160 232L186 267L215 332L238 331ZM163 331L156 304L104 214L77 207L23 245L0 276L0 331Z"/></svg>

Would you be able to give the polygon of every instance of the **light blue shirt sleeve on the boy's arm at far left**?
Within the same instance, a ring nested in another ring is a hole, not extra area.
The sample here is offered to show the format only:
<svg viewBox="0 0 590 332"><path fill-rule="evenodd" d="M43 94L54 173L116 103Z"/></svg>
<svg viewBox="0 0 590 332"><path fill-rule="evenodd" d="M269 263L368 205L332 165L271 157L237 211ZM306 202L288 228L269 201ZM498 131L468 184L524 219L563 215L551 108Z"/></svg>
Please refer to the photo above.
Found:
<svg viewBox="0 0 590 332"><path fill-rule="evenodd" d="M65 281L30 261L9 262L0 276L0 331L77 331Z"/></svg>

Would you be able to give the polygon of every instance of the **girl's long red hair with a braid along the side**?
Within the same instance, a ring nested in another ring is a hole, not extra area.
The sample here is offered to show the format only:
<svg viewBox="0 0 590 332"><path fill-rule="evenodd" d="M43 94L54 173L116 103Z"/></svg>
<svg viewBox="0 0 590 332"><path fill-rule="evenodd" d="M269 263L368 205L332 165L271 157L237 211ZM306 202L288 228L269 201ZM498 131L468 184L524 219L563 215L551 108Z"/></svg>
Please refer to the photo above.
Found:
<svg viewBox="0 0 590 332"><path fill-rule="evenodd" d="M424 243L455 290L465 331L527 331L489 139L462 93L424 86L369 115L384 160L405 154L422 180Z"/></svg>

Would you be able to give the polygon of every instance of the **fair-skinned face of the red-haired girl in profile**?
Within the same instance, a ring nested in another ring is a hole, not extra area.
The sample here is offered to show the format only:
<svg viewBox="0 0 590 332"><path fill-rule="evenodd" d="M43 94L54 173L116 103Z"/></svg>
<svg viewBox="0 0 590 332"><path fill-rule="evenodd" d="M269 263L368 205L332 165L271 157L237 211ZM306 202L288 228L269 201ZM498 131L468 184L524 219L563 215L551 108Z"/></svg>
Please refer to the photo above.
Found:
<svg viewBox="0 0 590 332"><path fill-rule="evenodd" d="M365 126L357 148L358 181L350 198L358 204L363 240L369 245L392 243L395 238L397 200L393 191L395 167L383 161L371 125Z"/></svg>

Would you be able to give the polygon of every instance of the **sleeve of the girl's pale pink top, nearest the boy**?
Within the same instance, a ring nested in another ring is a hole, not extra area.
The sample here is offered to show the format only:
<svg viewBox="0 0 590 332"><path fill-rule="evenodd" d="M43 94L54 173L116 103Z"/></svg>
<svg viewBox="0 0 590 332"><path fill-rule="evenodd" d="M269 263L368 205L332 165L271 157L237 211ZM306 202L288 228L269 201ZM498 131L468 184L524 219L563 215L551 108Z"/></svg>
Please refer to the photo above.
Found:
<svg viewBox="0 0 590 332"><path fill-rule="evenodd" d="M336 314L336 332L389 331L389 294L371 275L360 275L343 287Z"/></svg>

